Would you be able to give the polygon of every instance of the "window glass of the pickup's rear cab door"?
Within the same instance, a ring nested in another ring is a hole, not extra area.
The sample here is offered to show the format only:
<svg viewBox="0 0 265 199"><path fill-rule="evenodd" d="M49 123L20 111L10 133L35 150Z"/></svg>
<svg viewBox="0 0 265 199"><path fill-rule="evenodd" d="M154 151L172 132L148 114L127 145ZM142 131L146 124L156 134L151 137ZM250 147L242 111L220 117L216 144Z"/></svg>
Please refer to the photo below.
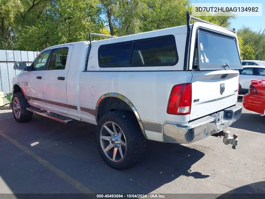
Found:
<svg viewBox="0 0 265 199"><path fill-rule="evenodd" d="M55 48L51 58L48 70L63 70L65 69L68 47Z"/></svg>

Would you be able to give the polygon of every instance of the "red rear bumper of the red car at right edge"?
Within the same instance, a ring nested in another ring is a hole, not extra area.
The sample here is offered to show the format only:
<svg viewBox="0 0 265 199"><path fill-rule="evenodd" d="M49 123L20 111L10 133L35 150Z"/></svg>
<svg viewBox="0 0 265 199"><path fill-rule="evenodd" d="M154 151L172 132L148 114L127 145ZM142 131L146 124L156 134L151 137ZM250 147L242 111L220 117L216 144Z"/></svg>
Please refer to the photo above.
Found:
<svg viewBox="0 0 265 199"><path fill-rule="evenodd" d="M243 106L247 110L254 111L259 114L265 114L265 97L246 94L243 96Z"/></svg>

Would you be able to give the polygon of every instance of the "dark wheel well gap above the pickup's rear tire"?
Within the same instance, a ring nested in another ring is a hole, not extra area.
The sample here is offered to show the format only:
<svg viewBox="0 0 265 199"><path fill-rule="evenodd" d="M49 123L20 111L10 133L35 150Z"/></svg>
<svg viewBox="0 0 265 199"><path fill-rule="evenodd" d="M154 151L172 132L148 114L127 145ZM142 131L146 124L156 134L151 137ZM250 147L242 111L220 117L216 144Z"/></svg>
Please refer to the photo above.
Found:
<svg viewBox="0 0 265 199"><path fill-rule="evenodd" d="M104 114L114 110L133 112L130 106L123 100L117 97L106 97L98 106L98 112L96 113L97 120L99 120Z"/></svg>

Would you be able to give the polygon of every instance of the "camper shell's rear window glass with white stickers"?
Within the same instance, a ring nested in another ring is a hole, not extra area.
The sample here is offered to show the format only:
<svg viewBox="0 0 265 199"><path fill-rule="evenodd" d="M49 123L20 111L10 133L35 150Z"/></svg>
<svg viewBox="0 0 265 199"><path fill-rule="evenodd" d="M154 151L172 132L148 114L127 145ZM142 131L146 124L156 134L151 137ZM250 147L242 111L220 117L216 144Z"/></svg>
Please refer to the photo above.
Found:
<svg viewBox="0 0 265 199"><path fill-rule="evenodd" d="M220 70L242 69L236 39L215 33L199 30L198 51L199 69ZM196 59L196 58L195 58Z"/></svg>

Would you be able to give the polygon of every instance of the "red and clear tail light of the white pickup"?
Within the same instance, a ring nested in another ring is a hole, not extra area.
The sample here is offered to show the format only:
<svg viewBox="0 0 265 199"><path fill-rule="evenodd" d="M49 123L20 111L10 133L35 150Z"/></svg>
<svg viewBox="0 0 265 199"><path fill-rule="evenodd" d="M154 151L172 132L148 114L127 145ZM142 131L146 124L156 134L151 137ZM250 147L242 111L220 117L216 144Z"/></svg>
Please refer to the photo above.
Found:
<svg viewBox="0 0 265 199"><path fill-rule="evenodd" d="M173 86L167 104L167 113L188 115L191 109L191 83Z"/></svg>

